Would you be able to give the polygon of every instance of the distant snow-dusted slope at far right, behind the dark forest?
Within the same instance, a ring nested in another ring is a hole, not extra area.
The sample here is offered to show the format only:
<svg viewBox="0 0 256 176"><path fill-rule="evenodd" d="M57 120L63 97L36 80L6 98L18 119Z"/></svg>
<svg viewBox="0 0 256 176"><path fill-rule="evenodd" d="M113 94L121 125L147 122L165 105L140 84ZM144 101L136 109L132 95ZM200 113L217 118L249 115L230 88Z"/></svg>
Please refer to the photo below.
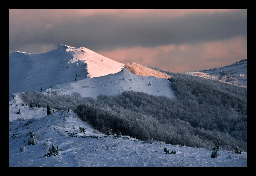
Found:
<svg viewBox="0 0 256 176"><path fill-rule="evenodd" d="M187 74L247 87L247 59L225 67L187 72Z"/></svg>

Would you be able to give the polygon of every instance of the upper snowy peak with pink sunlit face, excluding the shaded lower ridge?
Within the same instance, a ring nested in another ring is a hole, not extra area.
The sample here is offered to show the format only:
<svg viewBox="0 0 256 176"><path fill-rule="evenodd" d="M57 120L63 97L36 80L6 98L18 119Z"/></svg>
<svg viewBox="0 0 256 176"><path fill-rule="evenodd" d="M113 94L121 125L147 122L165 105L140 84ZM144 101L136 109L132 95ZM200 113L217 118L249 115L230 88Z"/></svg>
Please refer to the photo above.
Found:
<svg viewBox="0 0 256 176"><path fill-rule="evenodd" d="M64 82L98 77L121 71L123 64L105 58L87 48L59 44L41 54L9 53L10 93L40 91Z"/></svg>

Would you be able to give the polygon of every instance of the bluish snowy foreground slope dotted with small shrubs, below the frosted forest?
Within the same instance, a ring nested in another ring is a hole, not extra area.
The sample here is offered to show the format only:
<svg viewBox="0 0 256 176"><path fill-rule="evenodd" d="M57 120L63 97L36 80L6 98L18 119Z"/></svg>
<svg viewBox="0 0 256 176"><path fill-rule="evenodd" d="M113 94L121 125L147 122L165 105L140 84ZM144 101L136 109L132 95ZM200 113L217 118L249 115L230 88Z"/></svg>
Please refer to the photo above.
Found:
<svg viewBox="0 0 256 176"><path fill-rule="evenodd" d="M22 115L16 112L20 108ZM9 166L10 167L246 167L247 153L219 151L211 158L211 149L148 143L130 136L104 135L81 121L70 111L46 115L46 108L11 105L9 110ZM23 119L24 121L17 121ZM28 119L35 121L24 126ZM86 128L81 133L78 128ZM29 132L39 133L36 145L27 145ZM16 137L11 137L17 134ZM73 135L73 137L71 137ZM47 146L42 144L51 142ZM25 142L25 143L24 143ZM26 146L25 146L26 144ZM61 155L44 157L54 144ZM23 152L20 147L25 146ZM176 151L165 154L164 148Z"/></svg>

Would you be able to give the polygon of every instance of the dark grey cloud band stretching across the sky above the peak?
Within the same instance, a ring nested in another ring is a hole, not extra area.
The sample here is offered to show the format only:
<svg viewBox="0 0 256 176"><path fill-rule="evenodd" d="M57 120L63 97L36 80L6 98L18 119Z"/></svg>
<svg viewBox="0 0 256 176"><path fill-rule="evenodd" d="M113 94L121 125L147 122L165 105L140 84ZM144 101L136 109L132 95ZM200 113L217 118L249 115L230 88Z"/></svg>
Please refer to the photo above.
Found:
<svg viewBox="0 0 256 176"><path fill-rule="evenodd" d="M175 18L124 18L114 15L76 18L67 18L66 22L56 23L49 28L14 30L15 33L10 34L10 52L13 52L17 45L27 43L62 43L73 47L84 46L92 50L200 43L236 36L246 38L247 30L247 10L203 15L195 13ZM70 21L67 22L68 20ZM12 25L10 23L10 28Z"/></svg>

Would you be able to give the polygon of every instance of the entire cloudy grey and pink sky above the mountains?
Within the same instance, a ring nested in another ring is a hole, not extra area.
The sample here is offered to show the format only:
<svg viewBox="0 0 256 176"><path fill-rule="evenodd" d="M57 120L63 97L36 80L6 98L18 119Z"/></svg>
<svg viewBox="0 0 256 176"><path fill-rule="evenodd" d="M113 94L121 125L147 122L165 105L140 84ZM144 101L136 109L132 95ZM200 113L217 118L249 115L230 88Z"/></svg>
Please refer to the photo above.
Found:
<svg viewBox="0 0 256 176"><path fill-rule="evenodd" d="M172 72L247 58L246 9L9 9L9 52L83 46Z"/></svg>

